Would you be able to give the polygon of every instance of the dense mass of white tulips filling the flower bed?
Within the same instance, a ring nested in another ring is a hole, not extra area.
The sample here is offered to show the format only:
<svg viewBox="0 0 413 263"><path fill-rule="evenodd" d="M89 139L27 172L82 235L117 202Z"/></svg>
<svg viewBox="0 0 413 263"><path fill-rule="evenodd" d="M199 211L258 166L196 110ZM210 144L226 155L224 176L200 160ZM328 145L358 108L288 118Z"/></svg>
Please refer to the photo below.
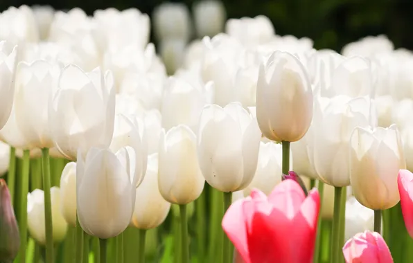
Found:
<svg viewBox="0 0 413 263"><path fill-rule="evenodd" d="M197 36L207 37L187 44L188 9L155 10L164 62L137 9L0 13L0 173L8 145L73 161L51 190L55 242L76 215L103 239L155 228L170 203L200 197L205 181L269 193L283 174L281 141L291 142L298 174L351 185L350 232L372 228L367 208L396 205L398 170L413 169L413 53L382 36L342 55L317 51L310 39L275 35L263 16L229 19L220 33L225 10L215 0L193 12ZM332 217L334 191L324 189L323 215ZM28 194L27 211L31 235L45 244L41 190Z"/></svg>

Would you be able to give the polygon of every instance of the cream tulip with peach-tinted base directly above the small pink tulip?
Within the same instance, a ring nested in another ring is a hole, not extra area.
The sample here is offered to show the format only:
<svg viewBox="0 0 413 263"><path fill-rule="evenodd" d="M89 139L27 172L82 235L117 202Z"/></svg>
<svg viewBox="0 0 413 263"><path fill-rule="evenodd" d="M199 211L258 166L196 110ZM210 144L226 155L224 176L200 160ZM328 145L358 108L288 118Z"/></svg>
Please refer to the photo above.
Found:
<svg viewBox="0 0 413 263"><path fill-rule="evenodd" d="M406 168L396 125L385 129L357 127L351 134L350 179L354 197L373 210L392 208L400 201L398 170Z"/></svg>

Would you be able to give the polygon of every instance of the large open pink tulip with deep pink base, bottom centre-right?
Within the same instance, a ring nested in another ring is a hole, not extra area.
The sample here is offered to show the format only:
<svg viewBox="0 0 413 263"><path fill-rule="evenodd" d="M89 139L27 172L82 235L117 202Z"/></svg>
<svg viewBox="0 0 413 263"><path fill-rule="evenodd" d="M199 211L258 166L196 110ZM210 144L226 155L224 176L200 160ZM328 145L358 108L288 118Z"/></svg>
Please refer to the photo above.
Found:
<svg viewBox="0 0 413 263"><path fill-rule="evenodd" d="M293 180L279 183L267 197L259 190L233 203L222 228L245 263L313 260L319 194L305 197Z"/></svg>

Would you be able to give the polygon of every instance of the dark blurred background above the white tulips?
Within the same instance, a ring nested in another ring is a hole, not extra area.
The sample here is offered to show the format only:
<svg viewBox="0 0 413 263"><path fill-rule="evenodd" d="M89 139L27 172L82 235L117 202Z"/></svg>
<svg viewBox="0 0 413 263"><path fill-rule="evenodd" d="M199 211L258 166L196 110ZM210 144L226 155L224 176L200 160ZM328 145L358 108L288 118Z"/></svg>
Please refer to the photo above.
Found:
<svg viewBox="0 0 413 263"><path fill-rule="evenodd" d="M189 8L196 0L183 0ZM413 0L222 0L229 18L266 15L278 35L310 37L315 48L340 51L346 43L367 35L385 34L396 48L413 50ZM64 10L79 7L91 15L96 9L136 7L152 14L163 0L0 0L8 6L49 4Z"/></svg>

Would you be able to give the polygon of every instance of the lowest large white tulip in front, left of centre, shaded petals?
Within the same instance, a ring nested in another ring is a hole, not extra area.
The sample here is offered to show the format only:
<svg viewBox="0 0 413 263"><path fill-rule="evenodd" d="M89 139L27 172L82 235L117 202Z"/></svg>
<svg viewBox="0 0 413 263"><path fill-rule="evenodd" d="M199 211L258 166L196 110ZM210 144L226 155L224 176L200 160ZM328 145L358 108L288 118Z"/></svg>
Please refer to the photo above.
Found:
<svg viewBox="0 0 413 263"><path fill-rule="evenodd" d="M76 167L77 210L80 226L89 235L107 239L128 227L134 210L137 186L142 178L137 150L123 147L91 147Z"/></svg>

